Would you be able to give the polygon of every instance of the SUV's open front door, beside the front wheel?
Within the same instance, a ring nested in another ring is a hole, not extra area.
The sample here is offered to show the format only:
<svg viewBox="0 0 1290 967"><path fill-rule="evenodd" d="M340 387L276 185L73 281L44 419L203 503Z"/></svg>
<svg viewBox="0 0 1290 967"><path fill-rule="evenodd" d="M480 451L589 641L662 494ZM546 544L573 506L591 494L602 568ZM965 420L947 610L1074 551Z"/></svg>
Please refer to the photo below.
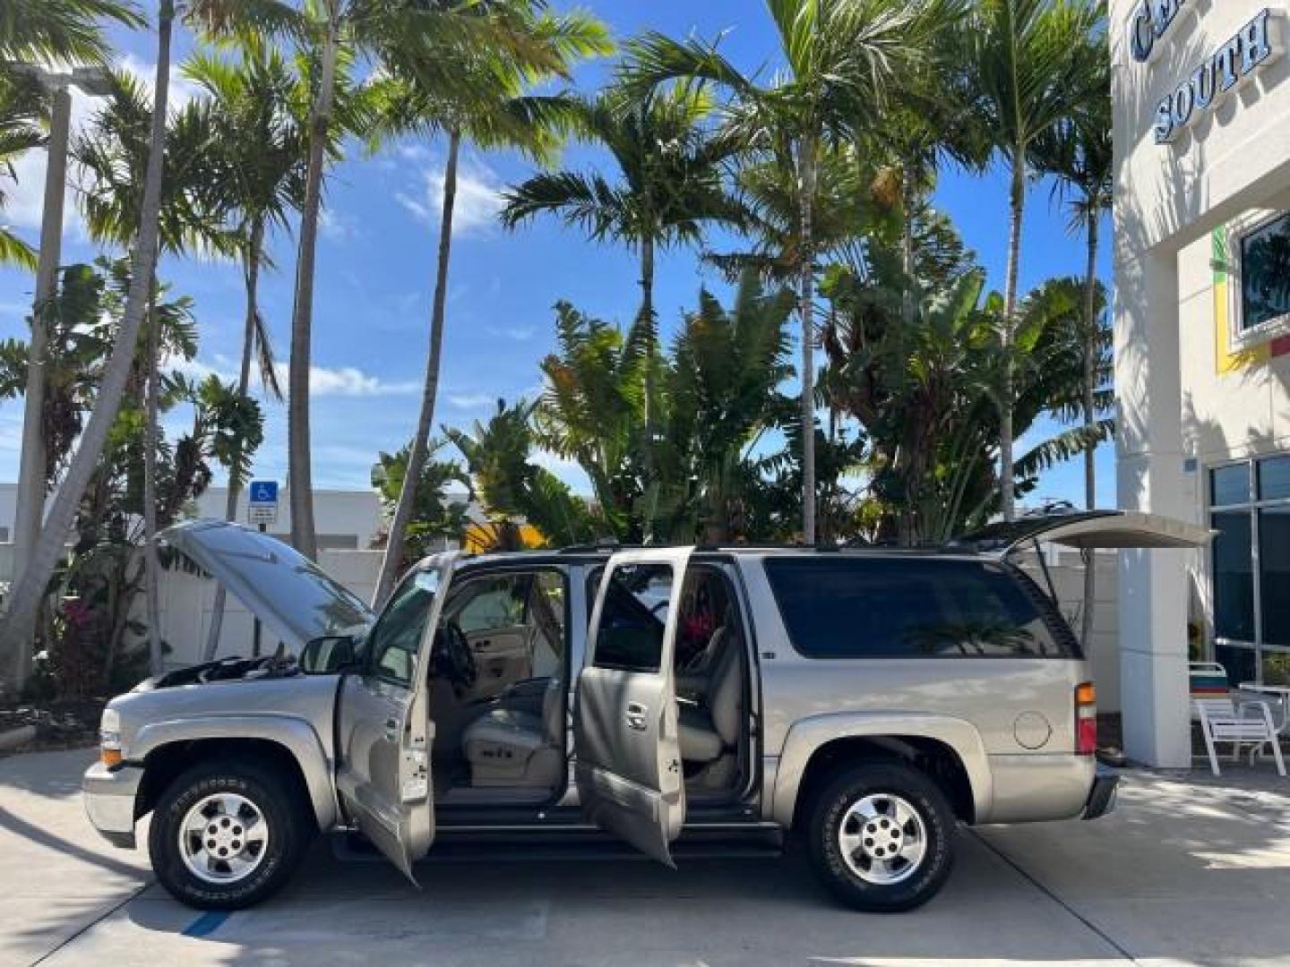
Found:
<svg viewBox="0 0 1290 967"><path fill-rule="evenodd" d="M427 668L458 553L418 565L368 634L361 670L338 695L337 790L348 815L404 874L435 837Z"/></svg>

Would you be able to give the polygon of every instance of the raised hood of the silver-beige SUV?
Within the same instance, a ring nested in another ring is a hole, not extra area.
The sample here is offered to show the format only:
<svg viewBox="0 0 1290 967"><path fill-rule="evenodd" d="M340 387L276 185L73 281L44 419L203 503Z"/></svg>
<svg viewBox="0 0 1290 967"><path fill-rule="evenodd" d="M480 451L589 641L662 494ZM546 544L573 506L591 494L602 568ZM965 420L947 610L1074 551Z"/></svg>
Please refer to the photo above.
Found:
<svg viewBox="0 0 1290 967"><path fill-rule="evenodd" d="M372 609L290 545L224 521L190 521L157 540L186 554L299 654L304 643L332 634L361 634Z"/></svg>

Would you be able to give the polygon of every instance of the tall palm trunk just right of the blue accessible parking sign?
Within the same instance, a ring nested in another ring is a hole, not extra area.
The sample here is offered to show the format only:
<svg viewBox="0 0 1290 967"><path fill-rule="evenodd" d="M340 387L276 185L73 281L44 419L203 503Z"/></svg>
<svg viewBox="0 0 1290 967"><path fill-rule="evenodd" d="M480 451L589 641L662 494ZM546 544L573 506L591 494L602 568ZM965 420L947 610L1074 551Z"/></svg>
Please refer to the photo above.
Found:
<svg viewBox="0 0 1290 967"><path fill-rule="evenodd" d="M313 260L322 206L322 162L332 126L335 62L339 54L339 12L328 3L328 31L322 41L321 77L310 116L310 157L304 171L304 208L295 260L295 304L292 309L292 360L286 374L286 467L292 507L292 544L308 558L317 557L313 530L313 473L310 454L310 343L313 327Z"/></svg>

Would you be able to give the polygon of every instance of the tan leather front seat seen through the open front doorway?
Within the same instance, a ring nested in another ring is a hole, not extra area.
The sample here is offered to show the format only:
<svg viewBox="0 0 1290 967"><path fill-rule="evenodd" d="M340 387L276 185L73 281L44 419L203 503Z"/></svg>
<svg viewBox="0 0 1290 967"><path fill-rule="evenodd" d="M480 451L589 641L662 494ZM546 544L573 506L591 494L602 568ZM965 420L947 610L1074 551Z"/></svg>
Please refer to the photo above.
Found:
<svg viewBox="0 0 1290 967"><path fill-rule="evenodd" d="M473 786L553 786L564 763L564 682L553 677L542 696L542 716L493 709L462 734Z"/></svg>

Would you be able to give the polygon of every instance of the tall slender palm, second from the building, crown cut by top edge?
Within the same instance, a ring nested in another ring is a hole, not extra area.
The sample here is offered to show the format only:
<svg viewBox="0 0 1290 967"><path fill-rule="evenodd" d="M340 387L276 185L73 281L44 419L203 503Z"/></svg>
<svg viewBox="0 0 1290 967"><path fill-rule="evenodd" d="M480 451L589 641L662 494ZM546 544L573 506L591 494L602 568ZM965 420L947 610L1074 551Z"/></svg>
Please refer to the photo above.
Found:
<svg viewBox="0 0 1290 967"><path fill-rule="evenodd" d="M979 0L964 32L965 70L975 85L977 124L1009 171L1007 276L1001 344L1006 358L1017 327L1026 184L1036 146L1073 108L1098 97L1104 30L1099 0ZM1004 520L1015 514L1013 373L1000 387L1000 495Z"/></svg>

